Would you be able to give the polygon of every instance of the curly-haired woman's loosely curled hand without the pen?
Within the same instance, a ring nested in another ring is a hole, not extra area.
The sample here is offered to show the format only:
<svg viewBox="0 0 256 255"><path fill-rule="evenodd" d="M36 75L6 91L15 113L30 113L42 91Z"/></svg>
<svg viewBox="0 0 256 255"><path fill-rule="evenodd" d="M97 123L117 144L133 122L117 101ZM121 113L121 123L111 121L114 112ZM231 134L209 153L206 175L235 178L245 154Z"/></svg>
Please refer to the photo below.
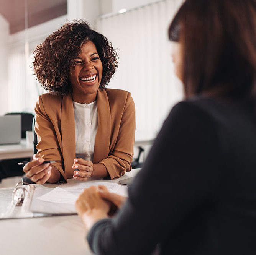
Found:
<svg viewBox="0 0 256 255"><path fill-rule="evenodd" d="M74 159L74 164L72 168L77 169L77 171L74 171L73 178L75 180L82 181L87 181L92 175L92 171L94 170L92 161L84 160L82 158Z"/></svg>

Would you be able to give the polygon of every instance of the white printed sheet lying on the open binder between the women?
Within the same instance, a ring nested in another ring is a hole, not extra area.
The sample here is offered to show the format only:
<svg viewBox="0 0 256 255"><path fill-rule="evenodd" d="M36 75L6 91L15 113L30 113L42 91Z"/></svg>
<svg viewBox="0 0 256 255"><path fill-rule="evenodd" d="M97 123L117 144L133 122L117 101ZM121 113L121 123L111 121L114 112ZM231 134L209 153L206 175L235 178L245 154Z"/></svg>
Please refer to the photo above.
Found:
<svg viewBox="0 0 256 255"><path fill-rule="evenodd" d="M98 185L105 185L109 192L112 193L118 193L118 189L120 188L120 185L111 182L85 182L78 184L67 183L59 185L59 187L54 188L52 191L38 197L37 199L51 203L74 205L84 188Z"/></svg>

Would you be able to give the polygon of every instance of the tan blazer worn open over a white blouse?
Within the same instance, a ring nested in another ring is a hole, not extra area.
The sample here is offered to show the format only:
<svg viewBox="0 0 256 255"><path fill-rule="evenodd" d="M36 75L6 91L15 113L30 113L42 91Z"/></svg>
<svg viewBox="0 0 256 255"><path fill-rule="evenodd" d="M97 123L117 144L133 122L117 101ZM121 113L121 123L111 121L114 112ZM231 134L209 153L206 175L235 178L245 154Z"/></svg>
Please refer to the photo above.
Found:
<svg viewBox="0 0 256 255"><path fill-rule="evenodd" d="M98 130L93 163L102 163L111 179L131 170L135 140L135 105L130 92L99 89L97 92ZM38 153L55 160L65 180L72 178L75 158L75 119L71 93L46 93L35 107Z"/></svg>

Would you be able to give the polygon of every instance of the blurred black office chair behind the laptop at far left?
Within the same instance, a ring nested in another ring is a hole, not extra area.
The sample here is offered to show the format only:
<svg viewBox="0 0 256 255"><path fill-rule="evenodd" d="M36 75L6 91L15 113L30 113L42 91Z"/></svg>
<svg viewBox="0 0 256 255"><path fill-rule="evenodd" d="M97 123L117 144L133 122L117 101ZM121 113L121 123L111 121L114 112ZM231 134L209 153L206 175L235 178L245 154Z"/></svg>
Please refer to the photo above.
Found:
<svg viewBox="0 0 256 255"><path fill-rule="evenodd" d="M26 131L32 130L34 115L28 112L10 112L5 115L21 115L21 138L26 138ZM22 167L18 162L27 161L30 158L5 159L0 161L0 181L3 178L23 175Z"/></svg>

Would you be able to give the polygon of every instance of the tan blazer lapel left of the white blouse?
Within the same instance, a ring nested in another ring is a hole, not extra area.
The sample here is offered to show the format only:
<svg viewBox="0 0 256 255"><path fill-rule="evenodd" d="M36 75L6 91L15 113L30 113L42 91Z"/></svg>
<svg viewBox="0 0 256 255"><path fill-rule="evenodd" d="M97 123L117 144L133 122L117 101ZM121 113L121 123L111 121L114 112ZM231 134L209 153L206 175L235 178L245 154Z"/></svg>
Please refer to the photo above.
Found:
<svg viewBox="0 0 256 255"><path fill-rule="evenodd" d="M71 93L62 98L61 136L65 174L67 178L72 178L73 169L71 167L75 158L75 116Z"/></svg>

